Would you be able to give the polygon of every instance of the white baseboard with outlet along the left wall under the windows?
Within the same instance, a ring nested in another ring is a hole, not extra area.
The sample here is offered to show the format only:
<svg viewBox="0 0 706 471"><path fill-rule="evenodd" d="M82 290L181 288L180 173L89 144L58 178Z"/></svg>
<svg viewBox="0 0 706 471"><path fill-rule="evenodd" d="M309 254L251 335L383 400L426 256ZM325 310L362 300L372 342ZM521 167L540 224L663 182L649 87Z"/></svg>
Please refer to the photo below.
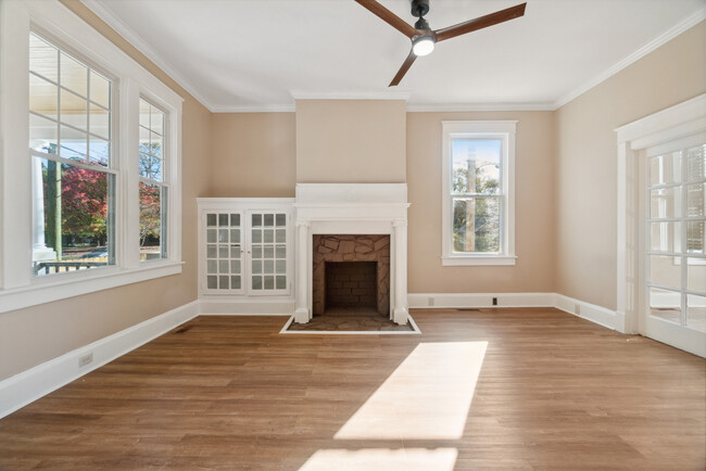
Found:
<svg viewBox="0 0 706 471"><path fill-rule="evenodd" d="M0 419L199 315L199 302L179 306L0 381ZM78 366L92 354L92 361Z"/></svg>

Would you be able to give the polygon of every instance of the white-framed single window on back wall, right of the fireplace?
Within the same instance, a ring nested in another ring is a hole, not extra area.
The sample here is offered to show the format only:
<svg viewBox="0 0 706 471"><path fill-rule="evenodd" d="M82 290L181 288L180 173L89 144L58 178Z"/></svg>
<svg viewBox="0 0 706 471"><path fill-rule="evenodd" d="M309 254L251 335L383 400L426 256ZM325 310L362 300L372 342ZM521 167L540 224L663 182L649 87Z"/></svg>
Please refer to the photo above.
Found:
<svg viewBox="0 0 706 471"><path fill-rule="evenodd" d="M443 122L443 265L515 264L515 127Z"/></svg>

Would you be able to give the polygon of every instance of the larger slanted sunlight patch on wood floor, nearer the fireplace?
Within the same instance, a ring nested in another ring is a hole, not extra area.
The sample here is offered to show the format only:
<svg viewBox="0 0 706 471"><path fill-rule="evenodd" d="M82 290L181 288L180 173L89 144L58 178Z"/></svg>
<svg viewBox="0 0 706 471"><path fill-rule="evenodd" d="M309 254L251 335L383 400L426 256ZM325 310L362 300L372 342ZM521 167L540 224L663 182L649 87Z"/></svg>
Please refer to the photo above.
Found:
<svg viewBox="0 0 706 471"><path fill-rule="evenodd" d="M420 343L335 438L461 438L487 347Z"/></svg>

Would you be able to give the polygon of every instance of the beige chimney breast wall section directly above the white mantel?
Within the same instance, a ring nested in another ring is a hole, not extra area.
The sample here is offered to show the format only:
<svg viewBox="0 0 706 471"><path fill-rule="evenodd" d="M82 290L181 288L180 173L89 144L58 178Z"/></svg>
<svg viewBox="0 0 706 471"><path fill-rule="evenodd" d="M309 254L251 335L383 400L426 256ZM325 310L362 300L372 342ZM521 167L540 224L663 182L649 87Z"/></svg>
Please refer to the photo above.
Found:
<svg viewBox="0 0 706 471"><path fill-rule="evenodd" d="M297 100L297 181L403 183L406 103Z"/></svg>

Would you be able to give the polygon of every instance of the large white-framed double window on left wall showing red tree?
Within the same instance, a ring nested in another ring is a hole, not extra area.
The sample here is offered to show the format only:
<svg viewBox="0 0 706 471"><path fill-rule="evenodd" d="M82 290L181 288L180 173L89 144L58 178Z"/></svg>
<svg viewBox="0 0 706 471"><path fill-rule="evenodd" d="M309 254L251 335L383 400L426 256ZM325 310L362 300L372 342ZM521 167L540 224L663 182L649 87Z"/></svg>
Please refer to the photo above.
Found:
<svg viewBox="0 0 706 471"><path fill-rule="evenodd" d="M0 62L0 311L180 272L181 98L55 0Z"/></svg>

